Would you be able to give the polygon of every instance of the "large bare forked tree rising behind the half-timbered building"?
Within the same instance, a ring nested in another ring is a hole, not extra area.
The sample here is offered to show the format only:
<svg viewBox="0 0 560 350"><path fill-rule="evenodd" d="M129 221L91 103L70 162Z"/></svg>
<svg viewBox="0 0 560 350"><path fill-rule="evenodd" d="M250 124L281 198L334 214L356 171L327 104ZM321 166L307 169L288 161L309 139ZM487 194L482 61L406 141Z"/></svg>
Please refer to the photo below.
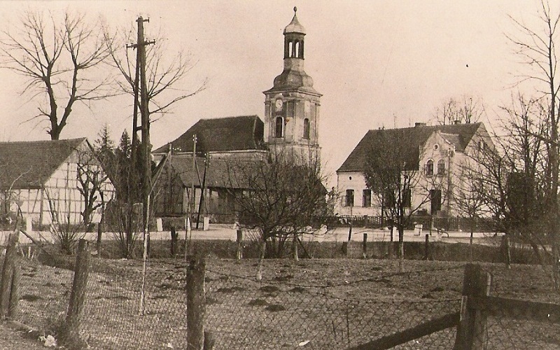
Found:
<svg viewBox="0 0 560 350"><path fill-rule="evenodd" d="M53 140L69 123L76 102L90 106L114 94L110 78L100 78L102 70L96 69L109 57L98 28L83 14L66 13L61 25L52 13L26 12L18 27L3 31L1 66L27 78L22 94L39 104L38 114L25 121L48 120Z"/></svg>

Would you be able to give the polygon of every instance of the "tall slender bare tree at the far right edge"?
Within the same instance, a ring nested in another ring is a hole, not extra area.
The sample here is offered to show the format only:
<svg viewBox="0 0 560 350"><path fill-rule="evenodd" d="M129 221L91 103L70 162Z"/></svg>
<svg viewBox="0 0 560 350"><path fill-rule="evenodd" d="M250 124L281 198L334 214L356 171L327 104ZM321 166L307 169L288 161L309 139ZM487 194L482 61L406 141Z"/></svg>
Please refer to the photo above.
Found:
<svg viewBox="0 0 560 350"><path fill-rule="evenodd" d="M552 235L552 253L554 257L554 284L560 290L560 225L559 210L559 90L556 68L559 57L556 52L560 13L553 13L549 3L541 0L538 9L540 26L532 28L522 20L510 17L517 31L507 36L516 48L515 53L528 67L527 73L519 74L520 82L532 80L537 82L537 90L546 99L547 105L547 166L549 167L550 188L546 202L550 210L548 221L549 233Z"/></svg>

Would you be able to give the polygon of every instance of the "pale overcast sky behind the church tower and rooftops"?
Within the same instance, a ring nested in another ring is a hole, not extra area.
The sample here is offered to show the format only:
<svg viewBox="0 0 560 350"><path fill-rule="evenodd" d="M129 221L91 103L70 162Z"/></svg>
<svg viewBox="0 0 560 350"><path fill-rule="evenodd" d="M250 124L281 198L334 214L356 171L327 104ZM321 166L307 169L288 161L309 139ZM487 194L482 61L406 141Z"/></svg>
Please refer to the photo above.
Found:
<svg viewBox="0 0 560 350"><path fill-rule="evenodd" d="M283 28L297 17L307 29L305 70L321 98L319 141L334 172L365 132L430 122L449 97L483 99L491 124L510 101L521 65L505 33L507 15L535 23L538 1L0 1L1 29L22 10L86 11L111 27L138 15L146 31L162 29L169 52L183 48L197 65L188 89L207 77L204 92L177 104L152 124L154 147L172 141L200 118L256 114L262 91L282 71ZM36 110L18 92L25 80L0 70L0 139L49 139L45 124L20 124ZM25 104L22 104L25 102ZM132 101L111 99L93 109L76 106L62 138L93 140L104 123L113 137L132 127Z"/></svg>

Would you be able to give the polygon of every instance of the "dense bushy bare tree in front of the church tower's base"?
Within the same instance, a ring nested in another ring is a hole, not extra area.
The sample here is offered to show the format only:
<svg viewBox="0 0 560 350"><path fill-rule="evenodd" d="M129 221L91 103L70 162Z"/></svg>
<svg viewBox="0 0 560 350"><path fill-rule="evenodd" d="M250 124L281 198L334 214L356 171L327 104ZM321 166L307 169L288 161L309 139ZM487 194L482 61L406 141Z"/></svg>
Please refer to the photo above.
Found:
<svg viewBox="0 0 560 350"><path fill-rule="evenodd" d="M267 159L228 163L228 178L233 204L240 223L258 232L260 259L257 279L262 279L262 260L267 241L276 245L274 254L282 255L285 243L297 244L302 235L313 235L311 226L321 225L328 214L327 191L318 157L270 153Z"/></svg>

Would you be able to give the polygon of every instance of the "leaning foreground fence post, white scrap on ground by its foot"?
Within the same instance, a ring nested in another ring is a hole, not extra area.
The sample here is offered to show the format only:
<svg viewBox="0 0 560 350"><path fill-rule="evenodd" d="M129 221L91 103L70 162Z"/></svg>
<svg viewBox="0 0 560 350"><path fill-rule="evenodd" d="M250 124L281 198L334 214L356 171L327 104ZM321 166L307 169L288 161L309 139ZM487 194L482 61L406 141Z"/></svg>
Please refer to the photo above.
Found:
<svg viewBox="0 0 560 350"><path fill-rule="evenodd" d="M62 330L62 344L75 344L76 347L86 345L80 339L80 317L85 302L85 290L87 287L87 275L90 272L90 251L87 241L80 239L78 242L78 252L76 253L76 265L74 267L74 278L70 293L68 312L66 313L66 323Z"/></svg>

